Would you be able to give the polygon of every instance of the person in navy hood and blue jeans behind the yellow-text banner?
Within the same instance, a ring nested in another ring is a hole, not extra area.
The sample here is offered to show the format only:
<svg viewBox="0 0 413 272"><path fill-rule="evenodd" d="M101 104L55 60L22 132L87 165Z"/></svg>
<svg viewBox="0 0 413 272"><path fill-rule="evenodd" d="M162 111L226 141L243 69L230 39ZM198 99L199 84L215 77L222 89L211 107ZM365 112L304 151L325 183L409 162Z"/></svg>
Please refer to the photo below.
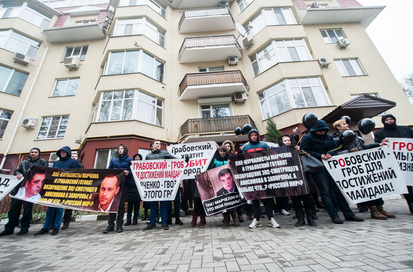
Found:
<svg viewBox="0 0 413 272"><path fill-rule="evenodd" d="M59 169L79 169L79 162L71 158L72 150L69 146L64 146L57 150L56 155L59 159L53 164L53 168ZM56 218L53 222L53 215L56 210ZM52 235L59 233L60 225L62 224L63 208L48 207L46 211L46 221L43 228L36 232L35 236L49 232L50 226L54 223Z"/></svg>

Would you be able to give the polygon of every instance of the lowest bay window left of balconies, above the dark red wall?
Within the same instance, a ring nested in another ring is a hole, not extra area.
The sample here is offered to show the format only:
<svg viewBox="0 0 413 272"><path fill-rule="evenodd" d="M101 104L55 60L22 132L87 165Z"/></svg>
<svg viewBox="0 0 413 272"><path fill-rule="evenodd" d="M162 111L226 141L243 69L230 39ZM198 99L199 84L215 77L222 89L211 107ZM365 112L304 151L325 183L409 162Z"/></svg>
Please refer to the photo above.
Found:
<svg viewBox="0 0 413 272"><path fill-rule="evenodd" d="M138 90L104 91L96 108L95 122L139 120L162 126L164 101Z"/></svg>

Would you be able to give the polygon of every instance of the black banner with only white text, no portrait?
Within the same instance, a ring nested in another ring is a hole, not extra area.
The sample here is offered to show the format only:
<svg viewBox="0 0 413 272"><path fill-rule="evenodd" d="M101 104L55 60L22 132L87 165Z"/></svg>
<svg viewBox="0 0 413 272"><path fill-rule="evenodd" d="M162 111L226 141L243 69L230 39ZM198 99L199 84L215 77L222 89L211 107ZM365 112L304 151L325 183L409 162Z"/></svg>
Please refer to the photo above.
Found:
<svg viewBox="0 0 413 272"><path fill-rule="evenodd" d="M280 146L229 157L240 194L247 200L309 193L293 146Z"/></svg>

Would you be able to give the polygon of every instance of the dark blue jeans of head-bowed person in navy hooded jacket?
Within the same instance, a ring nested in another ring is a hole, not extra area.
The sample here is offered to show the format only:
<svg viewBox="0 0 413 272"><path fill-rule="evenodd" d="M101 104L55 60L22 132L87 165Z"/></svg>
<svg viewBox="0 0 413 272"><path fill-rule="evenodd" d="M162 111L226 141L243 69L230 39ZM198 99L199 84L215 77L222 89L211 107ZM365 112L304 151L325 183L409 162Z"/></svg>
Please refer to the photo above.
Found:
<svg viewBox="0 0 413 272"><path fill-rule="evenodd" d="M334 207L333 197L335 195L337 199L338 206L340 207L344 217L354 216L353 211L351 211L347 200L344 198L342 192L337 187L337 184L333 178L328 173L327 169L320 170L313 174L314 181L317 184L318 190L320 191L321 200L323 200L323 205L327 211L330 218L339 217L337 210Z"/></svg>

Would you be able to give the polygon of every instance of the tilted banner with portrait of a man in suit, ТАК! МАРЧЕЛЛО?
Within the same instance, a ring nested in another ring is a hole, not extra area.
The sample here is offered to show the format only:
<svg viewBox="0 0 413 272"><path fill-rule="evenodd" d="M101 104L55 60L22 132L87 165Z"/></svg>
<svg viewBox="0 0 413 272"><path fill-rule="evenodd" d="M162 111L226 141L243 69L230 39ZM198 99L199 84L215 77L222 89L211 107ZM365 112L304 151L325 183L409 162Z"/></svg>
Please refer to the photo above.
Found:
<svg viewBox="0 0 413 272"><path fill-rule="evenodd" d="M228 164L195 175L207 216L244 204Z"/></svg>

